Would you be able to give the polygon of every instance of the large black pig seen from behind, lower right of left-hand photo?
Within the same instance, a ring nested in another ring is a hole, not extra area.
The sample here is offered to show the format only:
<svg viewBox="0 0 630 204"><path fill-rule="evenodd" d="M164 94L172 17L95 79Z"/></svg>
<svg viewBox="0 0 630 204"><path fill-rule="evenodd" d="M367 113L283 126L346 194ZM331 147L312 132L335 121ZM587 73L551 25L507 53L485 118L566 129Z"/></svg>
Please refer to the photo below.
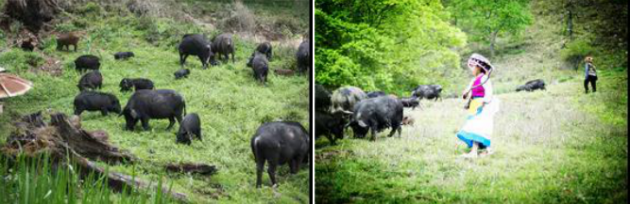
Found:
<svg viewBox="0 0 630 204"><path fill-rule="evenodd" d="M291 174L296 174L300 164L309 155L311 142L306 129L297 122L268 122L261 125L251 139L256 161L256 187L262 185L262 172L268 164L269 178L276 182L278 165L289 164Z"/></svg>

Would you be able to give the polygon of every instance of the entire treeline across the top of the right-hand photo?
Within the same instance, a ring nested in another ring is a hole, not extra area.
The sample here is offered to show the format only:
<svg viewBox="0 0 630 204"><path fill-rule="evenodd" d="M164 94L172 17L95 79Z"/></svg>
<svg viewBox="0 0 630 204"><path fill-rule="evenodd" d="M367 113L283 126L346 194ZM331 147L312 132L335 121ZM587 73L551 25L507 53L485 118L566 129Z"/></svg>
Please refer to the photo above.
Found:
<svg viewBox="0 0 630 204"><path fill-rule="evenodd" d="M329 88L408 94L418 84L461 77L467 44L495 53L497 38L519 40L538 17L562 25L565 68L593 55L603 69L627 67L625 0L316 0L316 80ZM554 26L557 27L557 26ZM559 67L554 67L554 69Z"/></svg>

